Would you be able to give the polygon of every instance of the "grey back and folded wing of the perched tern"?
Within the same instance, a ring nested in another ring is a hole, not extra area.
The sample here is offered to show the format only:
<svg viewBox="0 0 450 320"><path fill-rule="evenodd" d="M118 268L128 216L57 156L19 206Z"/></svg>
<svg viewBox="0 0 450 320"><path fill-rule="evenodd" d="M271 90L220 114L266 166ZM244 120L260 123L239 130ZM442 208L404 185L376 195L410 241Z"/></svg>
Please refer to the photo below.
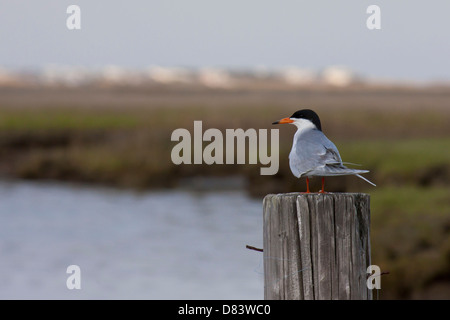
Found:
<svg viewBox="0 0 450 320"><path fill-rule="evenodd" d="M289 165L296 177L325 166L342 165L339 151L320 130L308 130L294 136Z"/></svg>

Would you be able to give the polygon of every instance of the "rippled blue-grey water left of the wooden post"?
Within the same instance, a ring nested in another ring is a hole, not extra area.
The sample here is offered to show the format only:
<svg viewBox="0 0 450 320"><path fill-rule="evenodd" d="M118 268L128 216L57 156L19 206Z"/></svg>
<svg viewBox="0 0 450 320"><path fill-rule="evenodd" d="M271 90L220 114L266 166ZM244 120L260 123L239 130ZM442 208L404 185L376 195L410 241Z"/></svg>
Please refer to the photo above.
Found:
<svg viewBox="0 0 450 320"><path fill-rule="evenodd" d="M241 191L0 182L1 299L263 299L247 244L262 247L262 204Z"/></svg>

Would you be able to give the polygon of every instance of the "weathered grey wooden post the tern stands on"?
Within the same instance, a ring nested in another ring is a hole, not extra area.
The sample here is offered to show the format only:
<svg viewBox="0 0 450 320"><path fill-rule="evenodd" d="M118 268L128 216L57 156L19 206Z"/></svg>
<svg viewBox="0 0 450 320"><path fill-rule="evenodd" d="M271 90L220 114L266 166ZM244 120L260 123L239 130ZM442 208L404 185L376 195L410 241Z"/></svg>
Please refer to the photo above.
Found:
<svg viewBox="0 0 450 320"><path fill-rule="evenodd" d="M269 194L263 229L265 299L372 299L369 195Z"/></svg>

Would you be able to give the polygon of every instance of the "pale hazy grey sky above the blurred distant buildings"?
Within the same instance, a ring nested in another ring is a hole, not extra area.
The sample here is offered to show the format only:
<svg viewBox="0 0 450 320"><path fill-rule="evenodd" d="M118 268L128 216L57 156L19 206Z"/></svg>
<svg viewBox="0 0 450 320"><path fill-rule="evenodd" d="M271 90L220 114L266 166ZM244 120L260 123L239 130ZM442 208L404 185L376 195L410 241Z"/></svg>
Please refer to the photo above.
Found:
<svg viewBox="0 0 450 320"><path fill-rule="evenodd" d="M71 4L81 30L66 27ZM366 9L381 8L381 30ZM229 66L450 80L448 0L0 0L0 66Z"/></svg>

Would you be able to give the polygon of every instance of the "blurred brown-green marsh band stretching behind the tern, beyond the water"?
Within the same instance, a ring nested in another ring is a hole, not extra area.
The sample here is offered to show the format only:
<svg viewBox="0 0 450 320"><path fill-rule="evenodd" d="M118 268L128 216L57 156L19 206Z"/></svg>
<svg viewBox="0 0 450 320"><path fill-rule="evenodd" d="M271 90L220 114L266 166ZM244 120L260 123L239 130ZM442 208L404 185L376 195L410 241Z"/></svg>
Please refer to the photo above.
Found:
<svg viewBox="0 0 450 320"><path fill-rule="evenodd" d="M287 165L289 126L277 128L280 171L275 176L260 176L260 165L176 166L170 159L176 144L170 136L177 128L192 132L195 120L203 121L204 130L273 129L272 121L308 107L319 113L344 161L371 170L369 178L381 184L448 186L449 101L450 88L436 87L3 87L0 175L138 189L175 187L197 176L238 175L254 196L291 191L298 182ZM367 189L348 177L330 179L329 187Z"/></svg>

